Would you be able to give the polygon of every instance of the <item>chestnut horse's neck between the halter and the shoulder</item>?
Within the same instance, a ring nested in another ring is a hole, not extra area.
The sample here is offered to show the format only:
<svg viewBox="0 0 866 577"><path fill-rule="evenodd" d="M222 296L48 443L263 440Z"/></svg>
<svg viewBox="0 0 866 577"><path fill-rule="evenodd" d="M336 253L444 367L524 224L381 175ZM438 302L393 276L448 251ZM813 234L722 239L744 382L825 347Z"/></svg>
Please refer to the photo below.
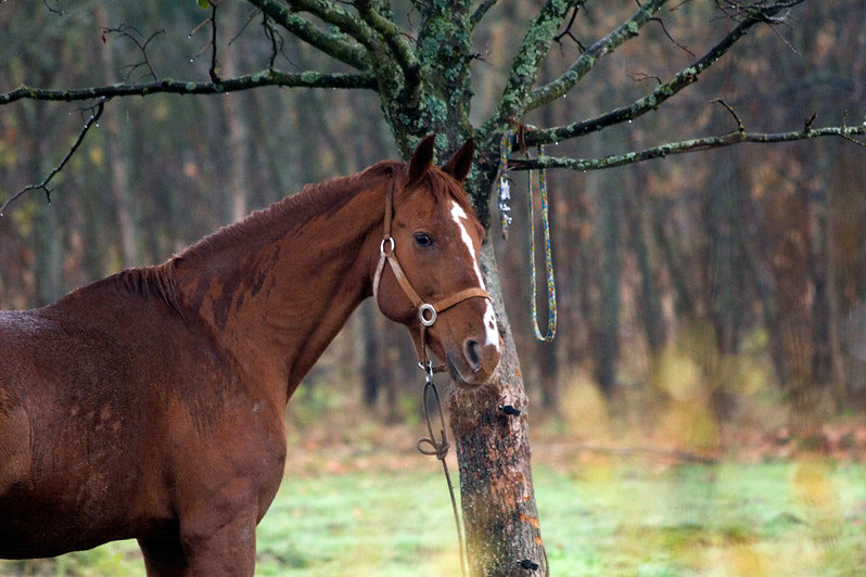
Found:
<svg viewBox="0 0 866 577"><path fill-rule="evenodd" d="M371 294L387 180L341 195L349 179L255 214L176 265L184 309L283 403Z"/></svg>

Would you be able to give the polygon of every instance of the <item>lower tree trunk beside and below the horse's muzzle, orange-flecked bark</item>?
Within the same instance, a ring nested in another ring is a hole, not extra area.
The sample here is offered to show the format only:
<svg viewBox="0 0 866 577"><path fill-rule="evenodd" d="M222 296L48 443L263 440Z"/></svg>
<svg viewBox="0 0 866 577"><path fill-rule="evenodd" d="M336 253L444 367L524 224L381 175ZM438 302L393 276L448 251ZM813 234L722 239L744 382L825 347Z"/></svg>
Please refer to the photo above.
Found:
<svg viewBox="0 0 866 577"><path fill-rule="evenodd" d="M469 574L473 577L546 575L530 464L527 406L493 246L482 248L502 358L491 382L476 390L450 387L448 408L460 469ZM520 414L501 408L511 407Z"/></svg>

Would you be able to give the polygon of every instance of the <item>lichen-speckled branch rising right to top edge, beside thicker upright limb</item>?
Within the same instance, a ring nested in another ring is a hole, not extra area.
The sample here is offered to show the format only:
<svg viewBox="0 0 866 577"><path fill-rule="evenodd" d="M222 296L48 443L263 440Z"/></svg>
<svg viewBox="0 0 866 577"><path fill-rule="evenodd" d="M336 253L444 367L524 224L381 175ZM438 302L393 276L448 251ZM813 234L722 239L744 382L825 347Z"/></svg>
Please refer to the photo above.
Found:
<svg viewBox="0 0 866 577"><path fill-rule="evenodd" d="M586 76L586 73L595 67L598 59L612 52L627 40L637 36L638 30L652 18L652 15L655 14L666 1L667 0L650 0L646 2L615 30L589 47L559 78L533 90L530 93L528 102L526 102L525 112L543 106L571 90L581 78Z"/></svg>

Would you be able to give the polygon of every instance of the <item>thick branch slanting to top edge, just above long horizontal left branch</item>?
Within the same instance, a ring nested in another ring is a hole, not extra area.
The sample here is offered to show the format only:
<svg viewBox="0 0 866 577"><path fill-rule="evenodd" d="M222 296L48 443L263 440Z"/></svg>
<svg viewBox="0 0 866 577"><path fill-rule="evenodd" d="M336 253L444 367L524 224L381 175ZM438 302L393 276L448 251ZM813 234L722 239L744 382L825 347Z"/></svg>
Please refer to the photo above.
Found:
<svg viewBox="0 0 866 577"><path fill-rule="evenodd" d="M247 0L279 26L298 39L359 70L370 67L367 50L345 35L320 30L315 24L293 14L277 0Z"/></svg>

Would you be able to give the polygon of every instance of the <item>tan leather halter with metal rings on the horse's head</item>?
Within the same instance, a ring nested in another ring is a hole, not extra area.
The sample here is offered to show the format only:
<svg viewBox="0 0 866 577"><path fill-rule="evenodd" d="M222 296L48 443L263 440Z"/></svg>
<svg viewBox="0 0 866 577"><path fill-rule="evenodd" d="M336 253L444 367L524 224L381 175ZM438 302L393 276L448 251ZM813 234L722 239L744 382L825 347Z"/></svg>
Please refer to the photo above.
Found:
<svg viewBox="0 0 866 577"><path fill-rule="evenodd" d="M400 267L400 264L397 260L397 255L394 253L396 246L394 244L394 238L391 235L391 221L394 216L393 206L394 179L391 180L391 183L387 188L387 194L385 195L385 226L382 243L379 246L379 265L375 267L375 277L373 277L373 298L375 298L377 304L379 304L379 282L382 279L382 272L384 271L385 262L389 262L391 265L391 270L394 271L394 275L397 278L397 282L403 288L403 293L412 304L412 307L418 311L418 320L421 323L421 331L419 333L419 337L415 338L413 336L412 341L415 343L416 351L418 352L418 362L430 376L434 372L437 373L444 371L445 366L440 364L433 367L432 362L430 361L430 358L426 354L426 329L433 326L433 323L436 322L436 318L438 317L440 312L451 308L458 303L462 303L463 300L474 297L486 298L489 300L491 295L487 294L487 291L481 286L472 286L470 288L458 291L450 296L446 296L445 298L437 300L432 305L424 302L424 299L418 295L418 292L415 290L415 287L412 287L412 283L409 282L409 279L403 271L403 267ZM382 306L379 305L379 308L381 309Z"/></svg>

